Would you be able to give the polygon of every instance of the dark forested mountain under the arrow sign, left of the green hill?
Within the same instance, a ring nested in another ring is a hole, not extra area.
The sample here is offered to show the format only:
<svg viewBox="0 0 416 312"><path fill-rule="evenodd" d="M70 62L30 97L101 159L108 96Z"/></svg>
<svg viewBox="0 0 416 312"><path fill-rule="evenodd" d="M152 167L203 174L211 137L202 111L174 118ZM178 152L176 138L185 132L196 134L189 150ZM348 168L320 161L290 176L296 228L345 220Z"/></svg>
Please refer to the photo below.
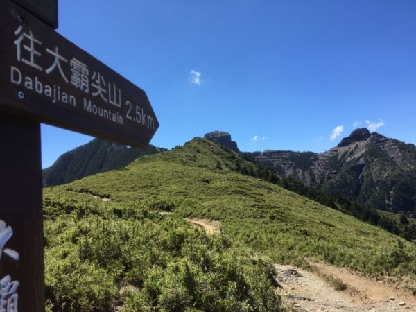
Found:
<svg viewBox="0 0 416 312"><path fill-rule="evenodd" d="M166 149L155 146L129 148L102 139L93 139L62 154L52 166L42 171L44 186L60 185L88 175L119 169L133 160Z"/></svg>

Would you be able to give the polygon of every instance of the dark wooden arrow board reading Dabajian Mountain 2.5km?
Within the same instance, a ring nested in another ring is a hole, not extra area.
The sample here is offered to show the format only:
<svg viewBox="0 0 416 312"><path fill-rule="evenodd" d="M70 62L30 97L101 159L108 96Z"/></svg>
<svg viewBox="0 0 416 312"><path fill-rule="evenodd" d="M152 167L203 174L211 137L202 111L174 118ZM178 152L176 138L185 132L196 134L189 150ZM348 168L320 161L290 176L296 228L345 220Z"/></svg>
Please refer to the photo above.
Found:
<svg viewBox="0 0 416 312"><path fill-rule="evenodd" d="M148 145L159 123L142 89L19 6L1 3L0 112Z"/></svg>

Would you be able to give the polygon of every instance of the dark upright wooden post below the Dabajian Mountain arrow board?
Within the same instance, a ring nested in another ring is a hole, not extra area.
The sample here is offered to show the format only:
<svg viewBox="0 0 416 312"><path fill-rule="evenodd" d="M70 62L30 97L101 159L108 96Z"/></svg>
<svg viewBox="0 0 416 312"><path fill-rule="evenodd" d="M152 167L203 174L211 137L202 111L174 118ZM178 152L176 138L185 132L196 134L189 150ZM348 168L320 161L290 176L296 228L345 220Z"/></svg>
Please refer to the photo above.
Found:
<svg viewBox="0 0 416 312"><path fill-rule="evenodd" d="M1 298L19 310L0 310L44 311L40 123L0 115L0 142L0 279L19 283L18 297Z"/></svg>

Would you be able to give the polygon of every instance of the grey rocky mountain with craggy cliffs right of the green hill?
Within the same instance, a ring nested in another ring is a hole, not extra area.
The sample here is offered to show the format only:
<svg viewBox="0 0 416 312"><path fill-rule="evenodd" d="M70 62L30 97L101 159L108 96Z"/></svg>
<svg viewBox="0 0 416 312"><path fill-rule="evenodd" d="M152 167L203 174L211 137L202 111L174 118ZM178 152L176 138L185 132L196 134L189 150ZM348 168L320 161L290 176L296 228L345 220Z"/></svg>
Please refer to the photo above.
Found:
<svg viewBox="0 0 416 312"><path fill-rule="evenodd" d="M255 158L277 173L389 211L415 213L416 147L356 129L324 153L265 150Z"/></svg>

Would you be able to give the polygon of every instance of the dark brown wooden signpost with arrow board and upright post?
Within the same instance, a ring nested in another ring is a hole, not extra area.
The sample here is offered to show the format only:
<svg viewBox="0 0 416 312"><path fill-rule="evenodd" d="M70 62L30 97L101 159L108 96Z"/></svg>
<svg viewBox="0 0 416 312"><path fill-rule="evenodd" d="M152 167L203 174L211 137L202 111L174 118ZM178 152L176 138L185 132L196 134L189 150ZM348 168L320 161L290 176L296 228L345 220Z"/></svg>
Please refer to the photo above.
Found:
<svg viewBox="0 0 416 312"><path fill-rule="evenodd" d="M159 127L142 89L53 31L56 1L0 0L0 311L44 311L40 123L130 146Z"/></svg>

